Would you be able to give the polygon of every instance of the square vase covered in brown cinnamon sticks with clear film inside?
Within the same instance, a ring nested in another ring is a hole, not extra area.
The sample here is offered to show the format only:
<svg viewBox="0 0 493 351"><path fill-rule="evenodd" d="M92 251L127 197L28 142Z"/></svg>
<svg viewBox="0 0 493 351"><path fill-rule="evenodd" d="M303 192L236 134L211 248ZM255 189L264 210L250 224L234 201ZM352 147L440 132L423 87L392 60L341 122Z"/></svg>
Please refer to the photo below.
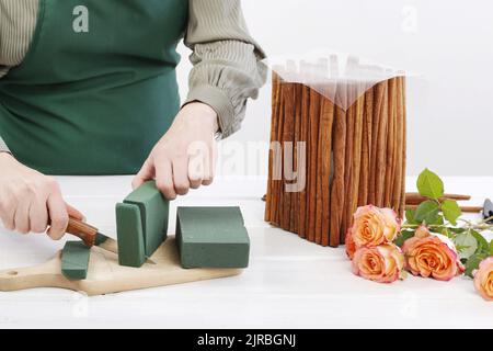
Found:
<svg viewBox="0 0 493 351"><path fill-rule="evenodd" d="M339 55L273 67L265 220L344 244L358 206L404 212L405 75Z"/></svg>

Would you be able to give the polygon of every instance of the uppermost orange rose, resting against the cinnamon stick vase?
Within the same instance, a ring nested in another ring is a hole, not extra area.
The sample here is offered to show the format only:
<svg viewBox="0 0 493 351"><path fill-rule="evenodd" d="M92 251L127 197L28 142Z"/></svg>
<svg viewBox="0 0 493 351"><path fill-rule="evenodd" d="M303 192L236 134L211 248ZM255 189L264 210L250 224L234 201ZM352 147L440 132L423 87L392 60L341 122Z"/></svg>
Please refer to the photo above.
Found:
<svg viewBox="0 0 493 351"><path fill-rule="evenodd" d="M354 224L346 237L351 236L356 248L375 247L392 242L400 230L400 220L394 211L368 205L356 211Z"/></svg>

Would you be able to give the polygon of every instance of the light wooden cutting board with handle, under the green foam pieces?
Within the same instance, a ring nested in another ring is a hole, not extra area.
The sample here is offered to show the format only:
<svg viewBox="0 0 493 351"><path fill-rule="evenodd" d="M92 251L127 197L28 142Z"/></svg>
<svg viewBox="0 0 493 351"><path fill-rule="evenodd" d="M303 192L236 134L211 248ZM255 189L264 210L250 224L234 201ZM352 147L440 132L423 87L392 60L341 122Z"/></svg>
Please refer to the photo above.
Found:
<svg viewBox="0 0 493 351"><path fill-rule="evenodd" d="M141 268L122 267L116 253L94 247L91 250L88 278L71 281L61 274L59 251L46 263L0 271L0 291L61 287L93 296L226 278L242 272L238 269L182 269L174 238L168 238L150 259L154 264L145 263Z"/></svg>

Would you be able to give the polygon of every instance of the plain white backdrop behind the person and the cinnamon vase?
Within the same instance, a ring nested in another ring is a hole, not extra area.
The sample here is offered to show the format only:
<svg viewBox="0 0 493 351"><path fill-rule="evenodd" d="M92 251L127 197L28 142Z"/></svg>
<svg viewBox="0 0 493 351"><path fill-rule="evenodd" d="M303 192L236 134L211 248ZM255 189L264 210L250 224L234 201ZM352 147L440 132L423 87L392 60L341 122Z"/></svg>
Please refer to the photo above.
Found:
<svg viewBox="0 0 493 351"><path fill-rule="evenodd" d="M440 176L493 176L493 2L242 2L251 33L270 55L334 48L424 77L409 83L409 174L428 167ZM180 53L184 97L190 52L181 46ZM267 140L270 103L267 86L250 103L242 131L225 143ZM245 162L238 173L262 174Z"/></svg>

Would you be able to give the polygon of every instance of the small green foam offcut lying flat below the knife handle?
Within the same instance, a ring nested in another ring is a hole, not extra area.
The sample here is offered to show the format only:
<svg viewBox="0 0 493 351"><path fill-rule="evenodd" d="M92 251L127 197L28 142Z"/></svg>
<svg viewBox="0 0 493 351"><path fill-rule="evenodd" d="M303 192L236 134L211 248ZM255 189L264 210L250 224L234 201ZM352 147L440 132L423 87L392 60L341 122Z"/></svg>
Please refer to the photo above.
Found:
<svg viewBox="0 0 493 351"><path fill-rule="evenodd" d="M85 279L90 252L82 241L67 241L61 251L61 274L72 280Z"/></svg>

